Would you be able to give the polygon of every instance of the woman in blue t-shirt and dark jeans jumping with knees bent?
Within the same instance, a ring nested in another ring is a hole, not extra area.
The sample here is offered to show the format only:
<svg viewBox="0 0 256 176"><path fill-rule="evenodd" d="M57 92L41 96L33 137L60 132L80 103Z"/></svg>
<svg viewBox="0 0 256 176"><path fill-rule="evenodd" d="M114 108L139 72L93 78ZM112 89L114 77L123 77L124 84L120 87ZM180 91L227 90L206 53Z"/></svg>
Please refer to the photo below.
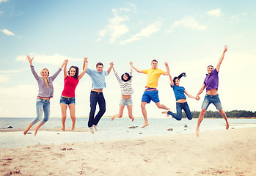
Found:
<svg viewBox="0 0 256 176"><path fill-rule="evenodd" d="M165 62L165 65L167 67L167 73L169 73L171 87L173 89L173 92L175 93L177 114L173 113L172 111L163 111L162 113L167 114L167 117L169 115L172 115L172 117L174 117L176 120L181 120L182 119L181 111L183 109L186 113L186 117L189 120L191 120L192 116L191 116L191 111L189 109L189 104L186 101L186 95L189 98L194 98L194 99L196 99L196 98L194 96L190 95L188 92L186 92L186 89L184 87L180 87L180 78L182 78L183 76L186 77L186 73L181 73L178 77L175 76L175 78L173 78L173 80L172 80L171 73L169 72L168 63Z"/></svg>

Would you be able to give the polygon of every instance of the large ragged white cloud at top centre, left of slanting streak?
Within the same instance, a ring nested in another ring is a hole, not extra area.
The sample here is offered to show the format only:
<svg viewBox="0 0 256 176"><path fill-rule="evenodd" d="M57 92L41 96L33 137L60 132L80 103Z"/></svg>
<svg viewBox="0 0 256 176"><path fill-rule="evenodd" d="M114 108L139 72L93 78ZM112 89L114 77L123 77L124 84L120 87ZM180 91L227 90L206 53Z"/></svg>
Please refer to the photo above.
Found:
<svg viewBox="0 0 256 176"><path fill-rule="evenodd" d="M129 21L129 18L125 15L118 15L117 12L120 11L130 12L130 10L128 10L127 8L112 9L114 17L110 18L109 24L104 29L100 30L98 33L98 36L100 37L105 37L107 34L109 34L109 42L111 44L114 44L119 37L121 37L123 34L129 31L128 27L125 24L123 24L123 22ZM98 38L96 41L101 41L101 38Z"/></svg>

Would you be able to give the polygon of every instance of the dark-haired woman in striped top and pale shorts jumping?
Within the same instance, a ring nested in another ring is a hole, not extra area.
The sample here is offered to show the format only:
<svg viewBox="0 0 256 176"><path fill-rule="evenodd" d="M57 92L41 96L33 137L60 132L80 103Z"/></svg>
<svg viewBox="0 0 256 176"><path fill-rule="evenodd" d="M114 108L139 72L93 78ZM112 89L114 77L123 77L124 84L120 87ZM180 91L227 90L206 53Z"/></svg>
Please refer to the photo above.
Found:
<svg viewBox="0 0 256 176"><path fill-rule="evenodd" d="M134 94L134 89L131 87L131 77L132 77L132 73L133 73L132 62L130 62L130 65L131 65L130 72L122 74L121 78L117 75L117 72L114 70L114 67L113 67L114 75L117 77L117 81L120 84L122 97L121 97L120 103L119 103L119 105L120 105L119 113L114 114L111 117L111 121L113 121L115 117L118 117L118 118L122 117L123 109L125 108L125 105L126 105L127 109L128 109L129 118L131 119L132 122L134 122L134 115L133 115L133 111L132 111L133 110L133 100L131 99L131 95Z"/></svg>

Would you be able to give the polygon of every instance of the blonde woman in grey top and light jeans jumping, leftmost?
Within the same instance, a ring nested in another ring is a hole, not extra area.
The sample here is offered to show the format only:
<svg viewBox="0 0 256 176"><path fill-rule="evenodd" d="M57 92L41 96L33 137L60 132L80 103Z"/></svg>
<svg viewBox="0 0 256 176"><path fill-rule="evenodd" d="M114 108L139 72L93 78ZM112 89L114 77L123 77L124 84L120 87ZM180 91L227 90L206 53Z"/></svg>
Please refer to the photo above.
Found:
<svg viewBox="0 0 256 176"><path fill-rule="evenodd" d="M34 128L34 136L36 136L38 129L43 124L45 124L45 122L47 122L50 117L50 98L54 97L53 81L56 78L56 76L59 75L63 66L67 63L67 60L65 60L62 63L62 65L59 67L59 70L57 70L53 76L49 76L49 71L47 68L43 68L43 70L40 71L41 76L38 76L36 71L34 70L34 66L32 65L32 61L34 57L30 58L30 56L26 56L26 59L29 60L30 68L32 70L34 78L37 80L38 95L37 95L37 102L36 102L37 117L32 122L30 122L29 125L26 126L25 130L23 131L23 134L26 135L29 129L32 128L32 125L36 124L43 118L43 120L39 122L39 124ZM44 113L44 117L43 117L43 113Z"/></svg>

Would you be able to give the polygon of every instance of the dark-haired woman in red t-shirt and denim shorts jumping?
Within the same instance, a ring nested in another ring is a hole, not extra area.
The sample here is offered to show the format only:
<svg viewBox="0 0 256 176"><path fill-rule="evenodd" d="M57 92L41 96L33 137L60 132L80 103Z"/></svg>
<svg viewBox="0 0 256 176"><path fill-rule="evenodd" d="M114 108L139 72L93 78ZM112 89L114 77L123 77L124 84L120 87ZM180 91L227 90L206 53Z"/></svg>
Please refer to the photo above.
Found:
<svg viewBox="0 0 256 176"><path fill-rule="evenodd" d="M84 57L85 67L81 74L78 76L79 69L76 66L71 66L67 71L67 62L64 66L64 89L60 97L60 109L62 111L62 131L65 131L65 122L67 118L67 106L70 109L70 118L72 120L71 131L75 129L76 115L75 115L75 90L79 80L84 76L87 71L87 57ZM68 76L67 76L68 74Z"/></svg>

